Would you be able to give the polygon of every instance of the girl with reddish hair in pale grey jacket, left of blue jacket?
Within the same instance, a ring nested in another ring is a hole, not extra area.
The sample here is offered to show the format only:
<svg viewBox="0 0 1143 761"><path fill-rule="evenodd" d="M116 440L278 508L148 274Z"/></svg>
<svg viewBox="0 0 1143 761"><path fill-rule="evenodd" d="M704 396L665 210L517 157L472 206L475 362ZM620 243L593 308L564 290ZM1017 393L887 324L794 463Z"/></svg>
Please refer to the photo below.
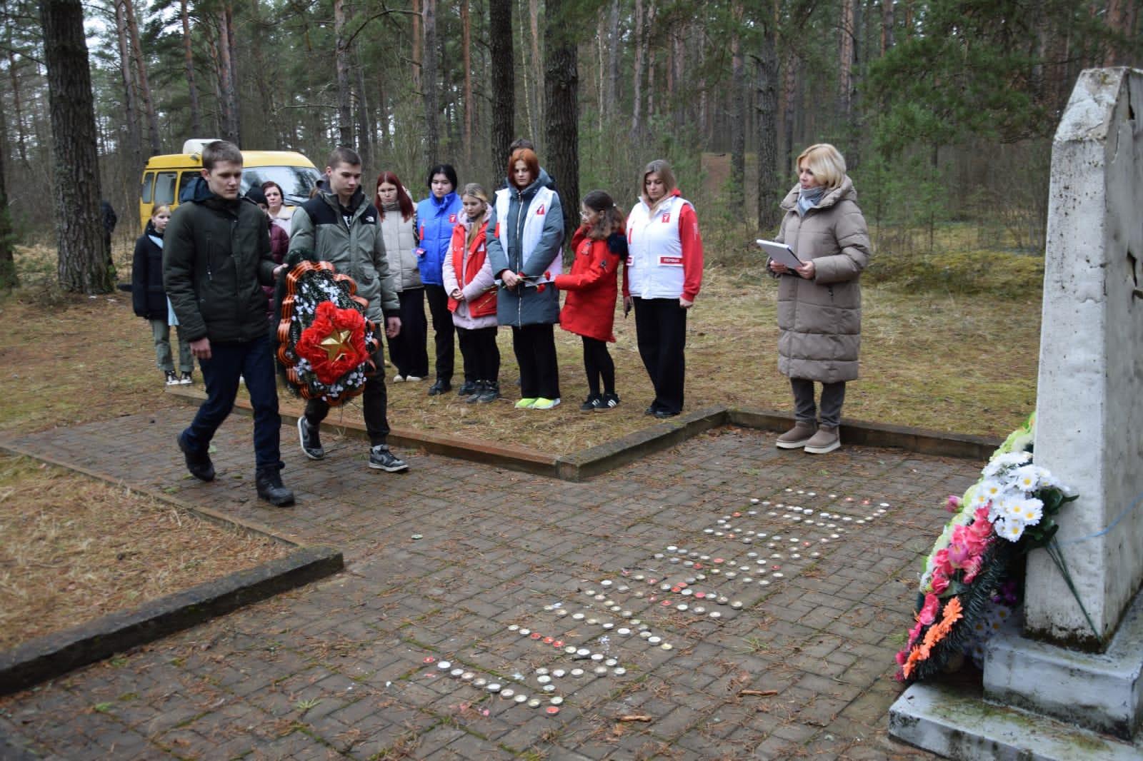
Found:
<svg viewBox="0 0 1143 761"><path fill-rule="evenodd" d="M389 338L389 359L397 367L393 383L421 380L429 375L429 352L425 336L425 289L421 285L417 263L417 232L413 224L414 208L409 192L391 171L377 176L374 205L381 216L381 233L385 239L389 272L397 283L401 303L401 331Z"/></svg>

